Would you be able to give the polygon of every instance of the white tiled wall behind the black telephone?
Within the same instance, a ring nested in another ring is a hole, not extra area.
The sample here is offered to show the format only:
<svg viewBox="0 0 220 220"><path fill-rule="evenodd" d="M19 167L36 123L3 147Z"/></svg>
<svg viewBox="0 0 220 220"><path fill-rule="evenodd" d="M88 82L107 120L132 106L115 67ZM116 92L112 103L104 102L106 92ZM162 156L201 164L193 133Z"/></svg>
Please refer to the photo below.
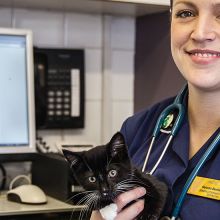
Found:
<svg viewBox="0 0 220 220"><path fill-rule="evenodd" d="M35 46L85 49L85 128L39 131L51 147L105 143L133 113L135 18L0 8L0 26L31 29Z"/></svg>

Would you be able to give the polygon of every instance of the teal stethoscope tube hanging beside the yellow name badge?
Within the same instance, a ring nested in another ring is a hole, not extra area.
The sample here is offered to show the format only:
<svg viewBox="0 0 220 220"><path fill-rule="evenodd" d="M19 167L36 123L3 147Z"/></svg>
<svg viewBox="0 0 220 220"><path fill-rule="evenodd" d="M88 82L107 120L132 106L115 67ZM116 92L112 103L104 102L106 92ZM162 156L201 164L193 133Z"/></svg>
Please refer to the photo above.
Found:
<svg viewBox="0 0 220 220"><path fill-rule="evenodd" d="M195 177L197 176L198 172L201 170L201 168L203 167L203 165L205 164L205 162L215 153L215 151L218 149L220 144L220 133L218 133L218 135L215 137L215 139L212 141L212 143L210 144L209 148L206 150L206 152L204 153L204 155L201 157L201 159L199 160L199 162L197 163L196 167L193 169L193 171L191 172L189 178L187 179L183 190L181 192L181 195L177 201L177 204L173 210L172 213L172 217L171 220L175 220L180 212L180 209L183 205L184 199L186 197L187 191L190 188L193 180L195 179Z"/></svg>

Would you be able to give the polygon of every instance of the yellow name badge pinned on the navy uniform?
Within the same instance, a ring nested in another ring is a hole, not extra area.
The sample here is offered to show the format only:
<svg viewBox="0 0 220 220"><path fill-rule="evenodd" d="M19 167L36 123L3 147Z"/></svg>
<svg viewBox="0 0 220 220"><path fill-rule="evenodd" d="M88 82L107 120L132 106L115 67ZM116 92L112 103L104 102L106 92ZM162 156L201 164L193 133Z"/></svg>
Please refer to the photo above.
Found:
<svg viewBox="0 0 220 220"><path fill-rule="evenodd" d="M197 176L187 193L220 200L220 180Z"/></svg>

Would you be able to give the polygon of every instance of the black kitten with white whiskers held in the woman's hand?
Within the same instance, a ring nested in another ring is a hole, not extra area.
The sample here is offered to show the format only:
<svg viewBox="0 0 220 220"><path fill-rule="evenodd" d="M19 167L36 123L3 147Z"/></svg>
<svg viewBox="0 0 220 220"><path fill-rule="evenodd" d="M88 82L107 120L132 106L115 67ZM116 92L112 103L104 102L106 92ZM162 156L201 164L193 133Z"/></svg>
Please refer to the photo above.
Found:
<svg viewBox="0 0 220 220"><path fill-rule="evenodd" d="M131 165L123 135L116 133L111 141L89 151L71 152L63 149L78 183L88 191L82 202L90 209L101 209L122 192L143 186L145 207L139 220L159 218L167 196L167 187L155 177Z"/></svg>

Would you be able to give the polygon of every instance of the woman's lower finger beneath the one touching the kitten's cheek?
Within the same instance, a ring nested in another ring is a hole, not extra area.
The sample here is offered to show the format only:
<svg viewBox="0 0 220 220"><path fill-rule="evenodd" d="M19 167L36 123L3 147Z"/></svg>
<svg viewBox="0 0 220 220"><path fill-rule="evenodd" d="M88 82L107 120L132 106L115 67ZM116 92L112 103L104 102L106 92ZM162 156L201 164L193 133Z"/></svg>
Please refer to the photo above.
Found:
<svg viewBox="0 0 220 220"><path fill-rule="evenodd" d="M144 209L144 200L139 200L120 212L114 220L132 220Z"/></svg>

